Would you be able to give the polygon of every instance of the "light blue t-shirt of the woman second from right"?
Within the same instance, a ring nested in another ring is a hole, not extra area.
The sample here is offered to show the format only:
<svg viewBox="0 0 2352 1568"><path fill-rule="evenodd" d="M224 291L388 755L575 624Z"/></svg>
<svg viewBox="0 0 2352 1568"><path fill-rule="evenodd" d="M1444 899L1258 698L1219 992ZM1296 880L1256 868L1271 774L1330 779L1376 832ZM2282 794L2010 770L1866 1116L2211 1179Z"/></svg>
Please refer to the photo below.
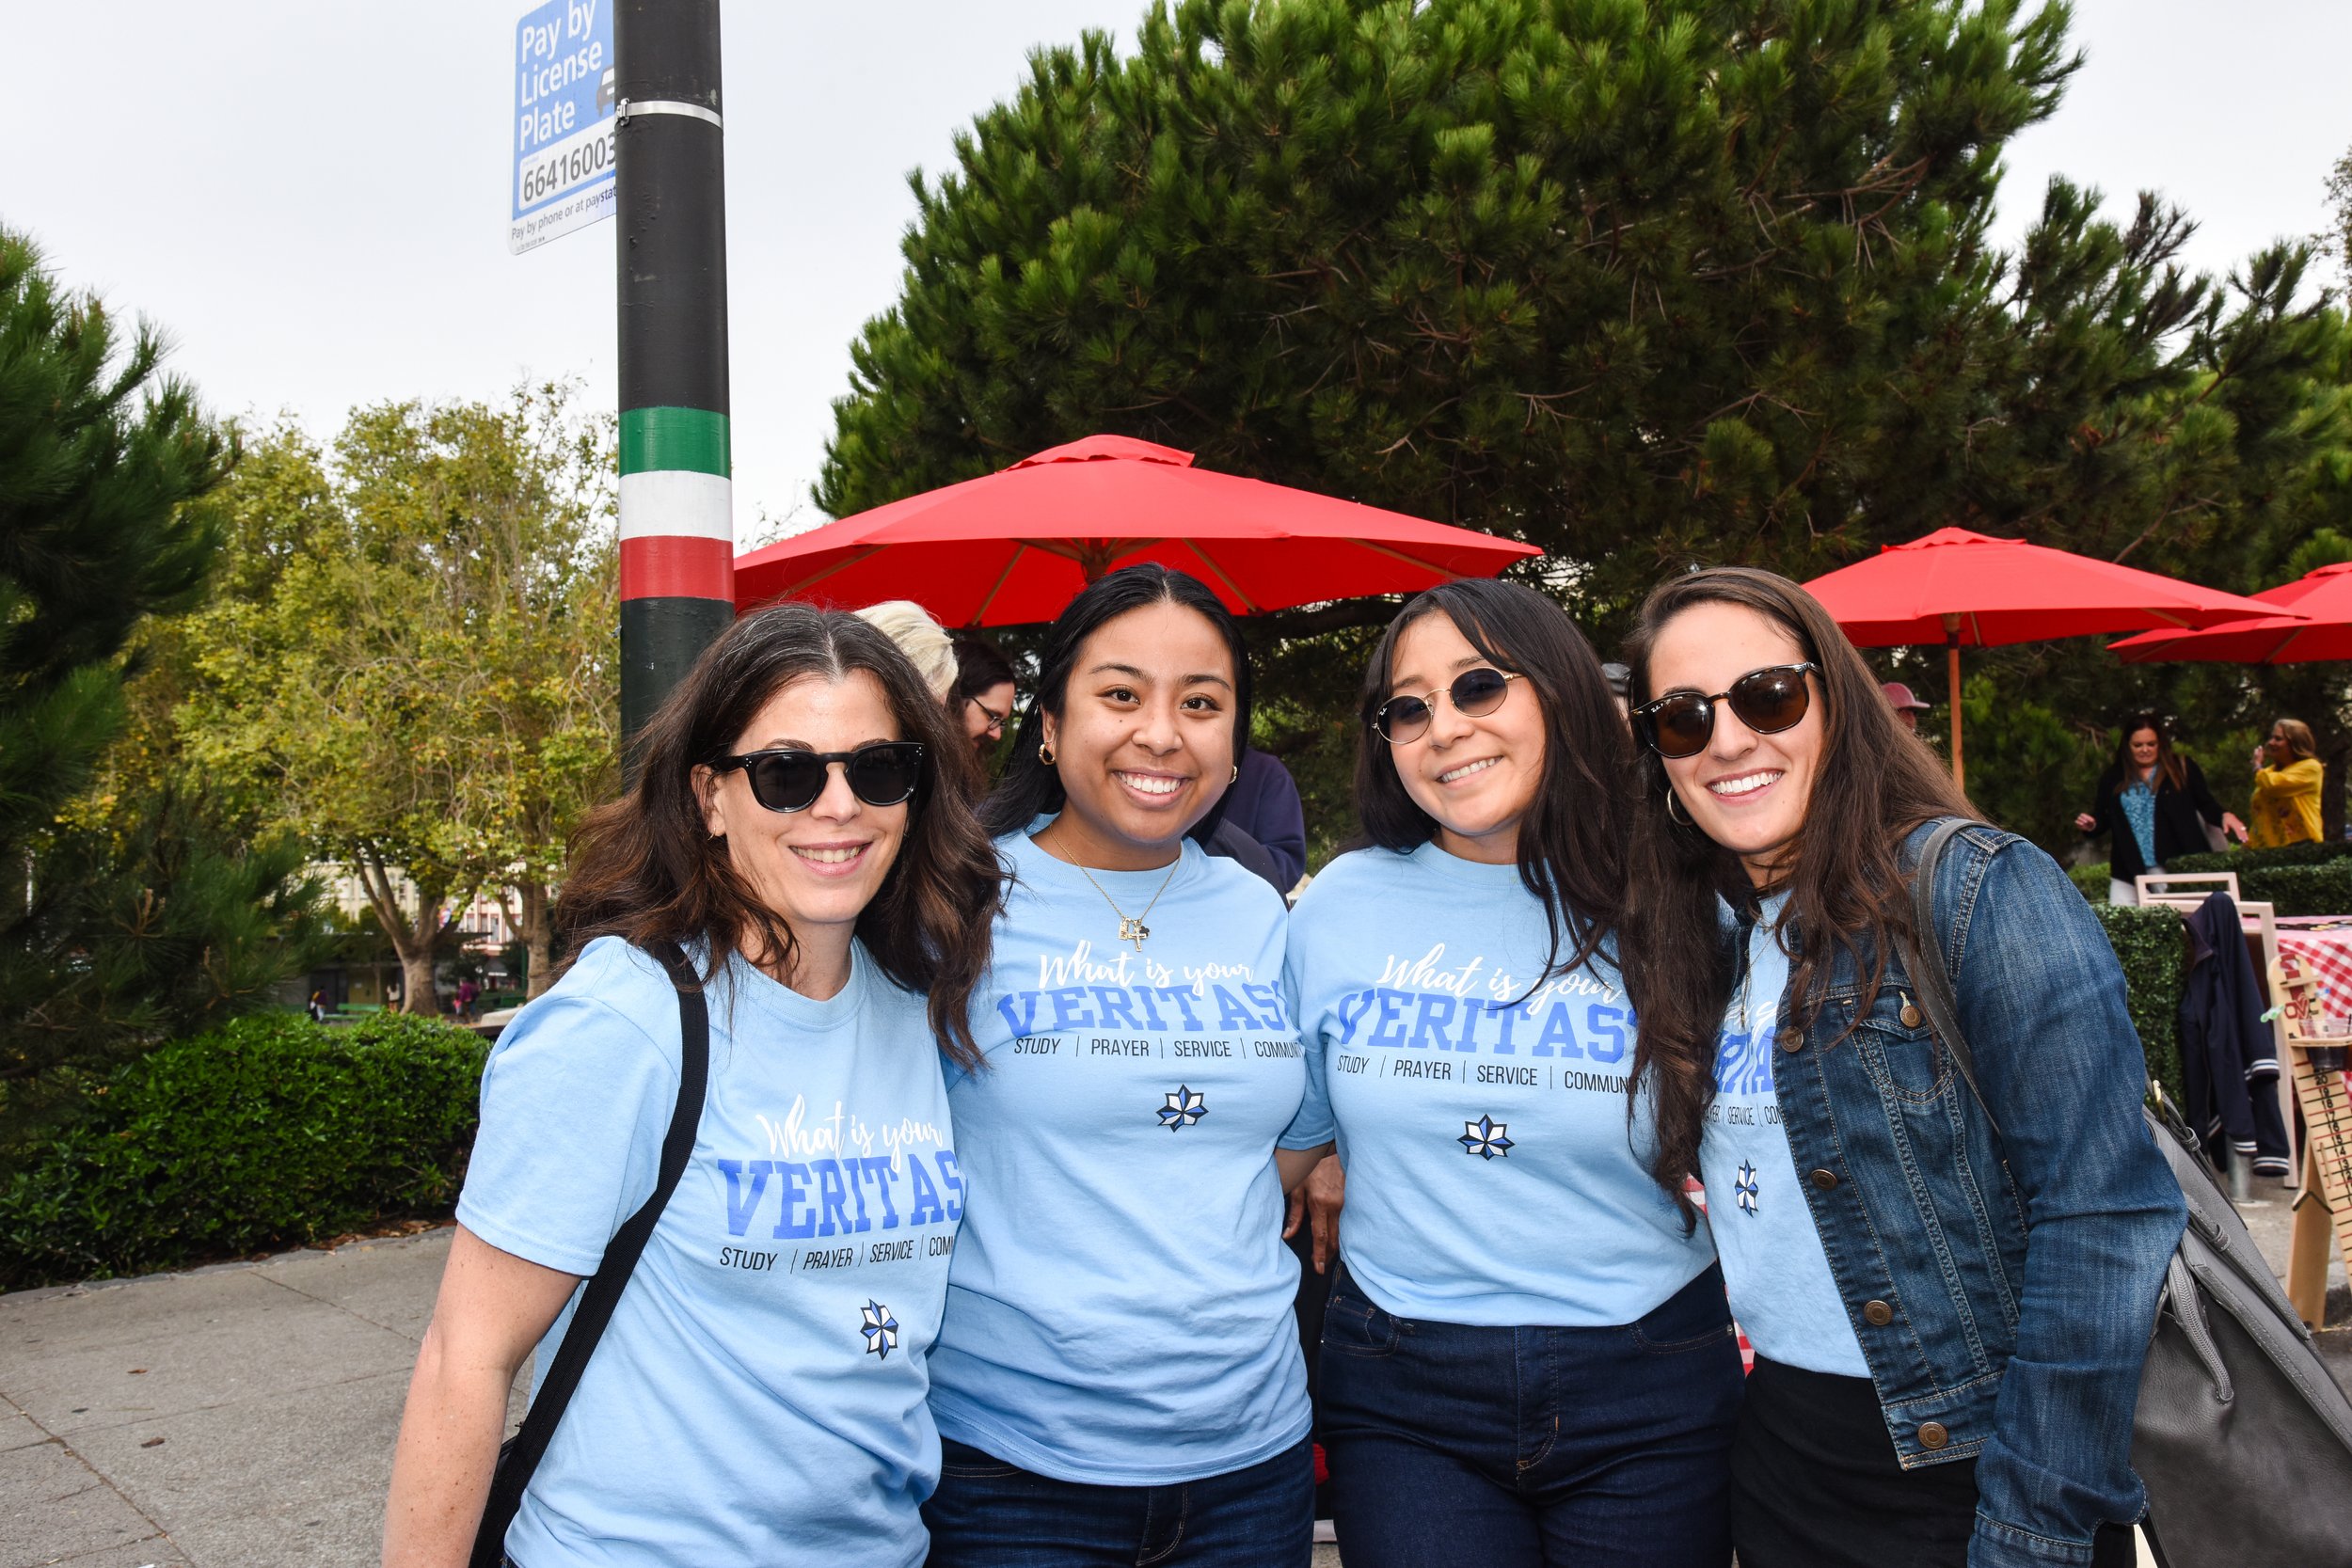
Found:
<svg viewBox="0 0 2352 1568"><path fill-rule="evenodd" d="M1291 912L1291 999L1348 1168L1341 1255L1397 1316L1630 1324L1712 1260L1651 1180L1649 1114L1628 1126L1616 966L1536 985L1548 954L1519 867L1437 844L1341 856Z"/></svg>

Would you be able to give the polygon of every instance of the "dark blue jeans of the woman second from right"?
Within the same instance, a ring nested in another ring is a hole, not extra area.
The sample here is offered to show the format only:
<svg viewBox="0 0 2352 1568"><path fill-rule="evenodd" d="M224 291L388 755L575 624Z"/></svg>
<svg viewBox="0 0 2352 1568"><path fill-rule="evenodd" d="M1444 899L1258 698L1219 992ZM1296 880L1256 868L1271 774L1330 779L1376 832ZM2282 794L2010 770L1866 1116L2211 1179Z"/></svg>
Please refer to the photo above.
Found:
<svg viewBox="0 0 2352 1568"><path fill-rule="evenodd" d="M1399 1319L1341 1267L1322 1436L1348 1568L1731 1561L1740 1347L1710 1267L1618 1328Z"/></svg>

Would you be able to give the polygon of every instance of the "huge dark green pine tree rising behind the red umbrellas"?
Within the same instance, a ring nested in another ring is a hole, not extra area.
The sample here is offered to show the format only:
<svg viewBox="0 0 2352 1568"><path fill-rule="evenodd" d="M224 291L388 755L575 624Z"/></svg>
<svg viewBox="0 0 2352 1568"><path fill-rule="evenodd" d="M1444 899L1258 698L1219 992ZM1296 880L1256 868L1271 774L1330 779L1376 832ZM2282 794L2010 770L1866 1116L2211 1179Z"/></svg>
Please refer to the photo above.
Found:
<svg viewBox="0 0 2352 1568"><path fill-rule="evenodd" d="M2065 21L2018 0L1162 2L1131 56L1037 52L955 169L915 176L903 292L851 348L816 501L1141 435L1522 536L1604 649L1686 564L1806 578L1943 524L2279 581L2352 494L2343 317L2307 249L2187 275L2190 221L2154 197L2119 221L2060 179L2016 254L1987 242L2006 141L2077 66ZM1261 630L1296 675L1277 750L1334 771L1352 649L1296 639L1385 614ZM1943 696L1940 670L1889 663ZM1971 672L2039 708L2016 757L1980 731L1971 783L2013 783L1990 804L2051 844L2124 708L2223 729L2253 701L2211 672L2119 677L2096 644Z"/></svg>

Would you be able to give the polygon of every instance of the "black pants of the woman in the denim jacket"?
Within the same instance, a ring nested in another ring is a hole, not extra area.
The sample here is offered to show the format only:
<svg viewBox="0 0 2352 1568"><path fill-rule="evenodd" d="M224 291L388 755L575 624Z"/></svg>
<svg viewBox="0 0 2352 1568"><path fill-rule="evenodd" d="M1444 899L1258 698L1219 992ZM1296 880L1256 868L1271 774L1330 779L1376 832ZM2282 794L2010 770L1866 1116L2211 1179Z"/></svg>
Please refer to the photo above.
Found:
<svg viewBox="0 0 2352 1568"><path fill-rule="evenodd" d="M1966 1568L1976 1460L1903 1469L1867 1378L1757 1356L1731 1439L1740 1568ZM2129 1526L2103 1526L2093 1568L2133 1568Z"/></svg>

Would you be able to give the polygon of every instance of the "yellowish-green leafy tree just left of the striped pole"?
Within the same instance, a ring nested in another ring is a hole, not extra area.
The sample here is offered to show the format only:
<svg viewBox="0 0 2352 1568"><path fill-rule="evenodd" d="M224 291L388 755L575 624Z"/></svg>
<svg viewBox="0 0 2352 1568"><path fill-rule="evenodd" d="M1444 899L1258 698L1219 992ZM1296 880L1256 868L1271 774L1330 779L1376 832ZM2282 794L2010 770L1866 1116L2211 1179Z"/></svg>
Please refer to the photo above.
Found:
<svg viewBox="0 0 2352 1568"><path fill-rule="evenodd" d="M339 860L435 1011L463 903L508 900L532 985L548 889L614 778L612 433L562 388L278 430L228 491L230 590L188 621L193 752Z"/></svg>

